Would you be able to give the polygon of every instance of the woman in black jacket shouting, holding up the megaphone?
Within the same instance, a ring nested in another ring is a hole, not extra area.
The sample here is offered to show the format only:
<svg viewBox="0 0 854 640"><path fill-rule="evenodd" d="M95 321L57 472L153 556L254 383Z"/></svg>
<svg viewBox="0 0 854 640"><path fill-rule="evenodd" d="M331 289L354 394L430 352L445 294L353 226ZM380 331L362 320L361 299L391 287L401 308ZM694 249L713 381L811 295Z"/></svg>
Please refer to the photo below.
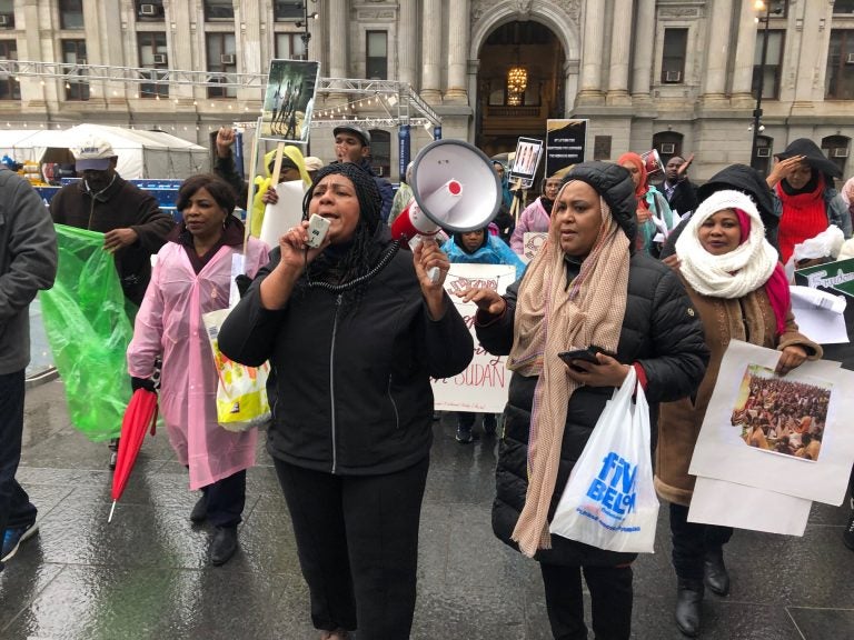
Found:
<svg viewBox="0 0 854 640"><path fill-rule="evenodd" d="M380 207L358 166L321 169L304 213L328 221L326 237L311 247L308 221L285 233L219 334L229 358L275 369L268 450L325 639L409 637L430 378L474 354L447 256L433 241L398 251Z"/></svg>

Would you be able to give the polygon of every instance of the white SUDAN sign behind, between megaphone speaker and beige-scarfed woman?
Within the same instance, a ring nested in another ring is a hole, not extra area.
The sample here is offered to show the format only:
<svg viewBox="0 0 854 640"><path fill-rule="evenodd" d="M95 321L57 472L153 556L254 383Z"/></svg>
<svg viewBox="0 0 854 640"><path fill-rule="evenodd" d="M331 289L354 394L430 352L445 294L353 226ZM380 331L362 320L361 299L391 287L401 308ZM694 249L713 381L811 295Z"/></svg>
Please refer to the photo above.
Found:
<svg viewBox="0 0 854 640"><path fill-rule="evenodd" d="M516 268L507 264L451 263L445 278L445 290L466 321L475 340L475 357L465 371L453 378L433 380L434 406L437 411L500 413L507 403L510 371L506 356L493 356L480 347L475 336L477 306L464 303L455 296L470 287L483 287L504 293L516 281Z"/></svg>

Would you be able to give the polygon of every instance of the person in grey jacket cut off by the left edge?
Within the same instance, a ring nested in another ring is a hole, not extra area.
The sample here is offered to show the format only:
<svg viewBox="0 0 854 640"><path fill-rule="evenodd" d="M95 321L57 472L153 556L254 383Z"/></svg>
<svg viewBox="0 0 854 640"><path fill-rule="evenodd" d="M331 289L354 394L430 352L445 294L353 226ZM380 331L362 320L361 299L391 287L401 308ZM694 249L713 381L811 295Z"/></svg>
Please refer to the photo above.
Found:
<svg viewBox="0 0 854 640"><path fill-rule="evenodd" d="M38 530L36 507L14 479L21 459L30 302L57 274L57 237L29 182L0 168L0 571Z"/></svg>

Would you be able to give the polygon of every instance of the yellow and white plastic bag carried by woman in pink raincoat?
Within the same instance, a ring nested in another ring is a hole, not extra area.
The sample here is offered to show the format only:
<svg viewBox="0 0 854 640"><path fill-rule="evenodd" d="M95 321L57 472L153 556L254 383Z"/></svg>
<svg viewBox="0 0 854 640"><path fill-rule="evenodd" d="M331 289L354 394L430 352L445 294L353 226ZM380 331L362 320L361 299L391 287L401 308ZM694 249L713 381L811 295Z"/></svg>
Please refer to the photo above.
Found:
<svg viewBox="0 0 854 640"><path fill-rule="evenodd" d="M247 367L226 357L219 350L219 329L230 309L219 309L202 314L208 331L214 361L217 367L217 422L228 431L246 431L266 424L270 420L267 400L269 362L260 367Z"/></svg>

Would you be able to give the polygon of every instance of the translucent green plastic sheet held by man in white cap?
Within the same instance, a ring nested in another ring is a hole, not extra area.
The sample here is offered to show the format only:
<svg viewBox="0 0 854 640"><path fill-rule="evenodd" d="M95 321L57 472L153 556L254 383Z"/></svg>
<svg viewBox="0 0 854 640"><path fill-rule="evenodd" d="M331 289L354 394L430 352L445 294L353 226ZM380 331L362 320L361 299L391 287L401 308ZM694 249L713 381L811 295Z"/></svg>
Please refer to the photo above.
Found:
<svg viewBox="0 0 854 640"><path fill-rule="evenodd" d="M90 440L117 438L130 400L126 351L133 328L103 233L56 224L59 270L39 293L71 423Z"/></svg>

